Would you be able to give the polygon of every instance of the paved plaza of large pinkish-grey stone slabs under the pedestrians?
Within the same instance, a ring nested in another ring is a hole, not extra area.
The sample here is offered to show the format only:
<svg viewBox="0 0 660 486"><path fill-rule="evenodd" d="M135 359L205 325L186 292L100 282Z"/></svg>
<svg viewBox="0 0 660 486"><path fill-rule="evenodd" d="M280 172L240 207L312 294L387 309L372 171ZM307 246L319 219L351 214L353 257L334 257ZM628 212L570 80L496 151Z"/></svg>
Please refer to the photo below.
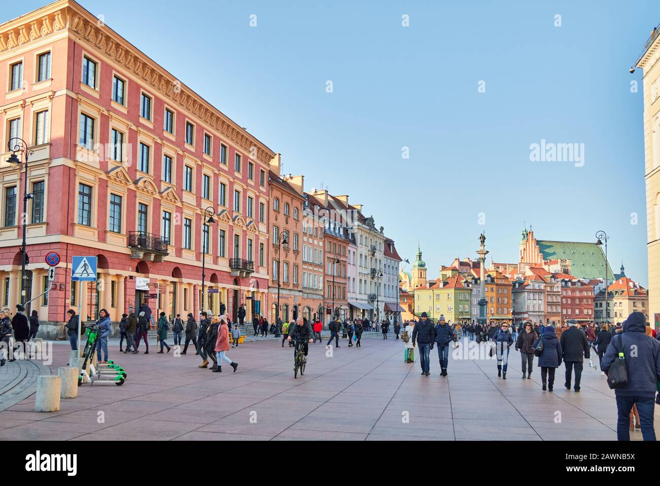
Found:
<svg viewBox="0 0 660 486"><path fill-rule="evenodd" d="M155 354L155 346L147 356L119 354L111 340L111 358L128 373L123 386L82 385L79 397L63 399L54 413L34 412L34 394L15 397L0 412L0 438L616 440L614 392L593 368L585 367L581 392L575 393L564 388L560 367L554 393L548 393L541 391L540 370L521 380L515 351L506 381L497 377L492 359L450 358L449 376L441 378L436 349L432 374L425 377L418 363L403 362L401 341L379 335L362 342L362 348L348 348L340 341L332 357L324 344L310 344L306 374L294 380L292 350L271 338L229 350L240 364L236 374L229 366L222 374L197 368L199 356L190 350L179 357L174 351ZM51 372L57 374L68 357L67 343L55 343ZM12 372L17 363L0 371ZM9 403L12 397L0 399ZM658 429L658 407L655 422ZM631 434L642 438L639 431Z"/></svg>

